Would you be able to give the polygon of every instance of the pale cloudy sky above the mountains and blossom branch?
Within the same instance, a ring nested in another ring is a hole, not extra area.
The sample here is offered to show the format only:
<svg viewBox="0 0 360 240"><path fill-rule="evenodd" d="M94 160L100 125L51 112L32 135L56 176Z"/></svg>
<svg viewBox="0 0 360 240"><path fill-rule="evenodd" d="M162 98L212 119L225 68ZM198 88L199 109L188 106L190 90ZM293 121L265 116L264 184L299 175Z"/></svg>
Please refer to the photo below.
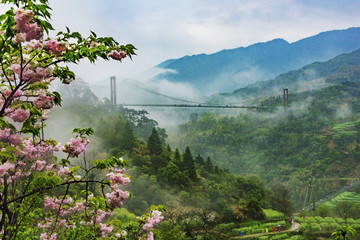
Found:
<svg viewBox="0 0 360 240"><path fill-rule="evenodd" d="M360 26L358 0L50 0L53 26L112 36L138 48L133 61L81 63L78 76L139 76L160 62Z"/></svg>

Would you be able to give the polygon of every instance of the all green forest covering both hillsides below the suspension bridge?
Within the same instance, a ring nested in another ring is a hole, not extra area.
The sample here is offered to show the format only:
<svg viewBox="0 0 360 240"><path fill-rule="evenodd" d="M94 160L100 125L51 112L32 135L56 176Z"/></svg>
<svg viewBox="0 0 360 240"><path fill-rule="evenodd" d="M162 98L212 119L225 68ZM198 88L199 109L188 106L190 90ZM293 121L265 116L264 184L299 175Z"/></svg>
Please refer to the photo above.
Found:
<svg viewBox="0 0 360 240"><path fill-rule="evenodd" d="M115 108L106 99L91 97L85 82L78 84L72 88L77 94L68 92L63 107L54 111L57 121L50 122L50 131L59 121L69 129L95 126L87 159L123 157L134 179L128 186L133 197L111 221L125 224L151 205L165 205L159 239L230 239L251 226L258 229L252 232L261 231L261 224L270 226L275 220L290 227L289 217L303 207L309 178L317 179L317 199L358 178L356 82L290 93L286 113L281 96L236 116L193 113L180 126L177 140L172 139L174 146L146 111ZM71 123L61 121L75 112L82 114ZM353 191L356 197L359 189ZM321 205L315 214L343 217L346 211L356 219L357 208L354 202L335 201ZM269 213L274 210L276 217ZM318 234L328 236L335 229ZM312 239L309 234L313 231L305 229L302 239Z"/></svg>

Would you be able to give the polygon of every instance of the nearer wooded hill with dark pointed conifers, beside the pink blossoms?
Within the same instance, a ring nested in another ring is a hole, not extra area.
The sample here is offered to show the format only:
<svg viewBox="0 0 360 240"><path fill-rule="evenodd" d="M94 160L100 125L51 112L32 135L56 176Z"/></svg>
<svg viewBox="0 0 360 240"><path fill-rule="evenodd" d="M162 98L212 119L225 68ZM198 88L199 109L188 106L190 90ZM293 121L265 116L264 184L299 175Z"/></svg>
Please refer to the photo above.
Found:
<svg viewBox="0 0 360 240"><path fill-rule="evenodd" d="M87 93L88 85L79 84ZM87 99L87 94L71 93L79 93L78 90L78 86L68 89L69 98L64 99L62 108L54 111L49 129L59 127L62 117L81 112L72 122L62 124L65 128L94 125L93 147L86 155L88 164L109 156L123 157L129 162L127 173L134 180L127 189L133 197L125 202L126 210L109 220L114 225L126 227L134 214L143 214L151 205L162 204L168 210L157 236L194 239L198 235L201 239L219 239L220 232L210 234L208 230L219 224L239 227L246 221L264 221L263 209L292 213L293 206L287 197L275 195L259 177L234 175L214 164L208 155L195 154L192 148L172 149L166 143L166 131L147 118L146 111L115 109L98 101L86 104L78 98ZM279 206L280 199L285 205Z"/></svg>

